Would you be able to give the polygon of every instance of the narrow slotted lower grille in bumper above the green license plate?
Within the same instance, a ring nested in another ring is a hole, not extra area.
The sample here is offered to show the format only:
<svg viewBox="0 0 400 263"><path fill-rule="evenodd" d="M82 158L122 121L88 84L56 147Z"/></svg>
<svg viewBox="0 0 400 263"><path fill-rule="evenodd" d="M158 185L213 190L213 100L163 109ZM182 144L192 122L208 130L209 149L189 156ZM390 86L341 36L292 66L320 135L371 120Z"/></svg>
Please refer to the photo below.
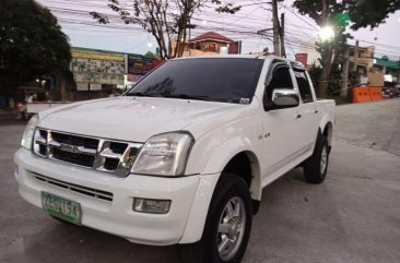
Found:
<svg viewBox="0 0 400 263"><path fill-rule="evenodd" d="M113 193L110 192L106 192L106 191L102 191L102 190L97 190L94 188L86 188L86 187L81 187L81 186L77 186L73 183L69 183L69 182L64 182L61 180L57 180L57 179L52 179L49 177L45 177L43 175L36 174L31 171L31 174L35 177L35 179L58 187L58 188L63 188L67 189L71 192L75 192L75 193L80 193L80 194L84 194L87 196L92 196L94 199L99 199L99 200L105 200L105 201L109 201L113 202Z"/></svg>

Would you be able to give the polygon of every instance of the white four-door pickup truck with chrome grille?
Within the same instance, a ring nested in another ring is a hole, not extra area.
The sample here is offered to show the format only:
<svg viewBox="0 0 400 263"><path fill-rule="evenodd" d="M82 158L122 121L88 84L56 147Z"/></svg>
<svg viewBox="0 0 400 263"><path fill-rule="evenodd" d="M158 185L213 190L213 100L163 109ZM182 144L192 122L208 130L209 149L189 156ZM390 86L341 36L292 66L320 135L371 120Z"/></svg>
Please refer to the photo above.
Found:
<svg viewBox="0 0 400 263"><path fill-rule="evenodd" d="M52 217L185 263L240 262L262 189L323 181L334 101L278 57L170 60L123 96L39 112L15 153L21 195Z"/></svg>

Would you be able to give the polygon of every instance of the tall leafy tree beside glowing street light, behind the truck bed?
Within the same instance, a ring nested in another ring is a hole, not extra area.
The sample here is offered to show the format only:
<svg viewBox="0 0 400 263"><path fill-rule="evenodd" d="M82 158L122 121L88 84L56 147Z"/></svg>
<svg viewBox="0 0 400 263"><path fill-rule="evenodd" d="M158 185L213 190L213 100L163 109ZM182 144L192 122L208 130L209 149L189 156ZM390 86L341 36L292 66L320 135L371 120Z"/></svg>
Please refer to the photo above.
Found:
<svg viewBox="0 0 400 263"><path fill-rule="evenodd" d="M352 22L352 28L370 26L374 28L389 13L400 9L400 0L295 0L293 5L303 15L310 16L320 27L330 25L334 28L336 38L332 41L318 41L317 50L321 55L322 72L319 79L318 95L328 96L333 55L340 56L343 45L350 34L344 34Z"/></svg>

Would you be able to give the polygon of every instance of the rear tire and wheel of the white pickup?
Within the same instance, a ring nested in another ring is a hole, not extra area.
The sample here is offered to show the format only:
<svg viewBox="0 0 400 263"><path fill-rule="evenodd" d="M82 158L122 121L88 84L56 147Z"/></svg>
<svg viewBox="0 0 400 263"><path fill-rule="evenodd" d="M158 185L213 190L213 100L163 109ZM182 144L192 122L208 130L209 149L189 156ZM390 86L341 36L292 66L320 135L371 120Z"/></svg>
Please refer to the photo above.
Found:
<svg viewBox="0 0 400 263"><path fill-rule="evenodd" d="M323 182L329 164L328 140L318 134L313 155L304 163L304 177L309 183Z"/></svg>

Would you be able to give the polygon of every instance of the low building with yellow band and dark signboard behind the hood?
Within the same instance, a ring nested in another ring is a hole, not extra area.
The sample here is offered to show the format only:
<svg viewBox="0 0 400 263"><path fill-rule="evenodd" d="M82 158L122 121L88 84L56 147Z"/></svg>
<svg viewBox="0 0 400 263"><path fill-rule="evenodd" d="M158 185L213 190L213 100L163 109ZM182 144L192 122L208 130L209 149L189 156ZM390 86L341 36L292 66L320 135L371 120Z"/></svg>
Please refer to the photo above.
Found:
<svg viewBox="0 0 400 263"><path fill-rule="evenodd" d="M154 68L154 59L137 53L72 47L71 57L70 100L108 96Z"/></svg>

